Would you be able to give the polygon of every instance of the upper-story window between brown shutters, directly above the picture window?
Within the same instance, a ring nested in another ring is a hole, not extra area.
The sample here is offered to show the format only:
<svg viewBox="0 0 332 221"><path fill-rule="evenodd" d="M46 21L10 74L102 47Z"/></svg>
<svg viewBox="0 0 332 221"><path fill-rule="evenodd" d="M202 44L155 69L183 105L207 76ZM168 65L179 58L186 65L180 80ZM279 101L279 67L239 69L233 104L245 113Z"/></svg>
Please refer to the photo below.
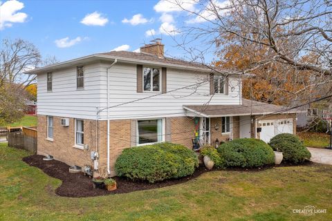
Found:
<svg viewBox="0 0 332 221"><path fill-rule="evenodd" d="M160 91L160 69L159 68L143 68L143 90L144 91Z"/></svg>

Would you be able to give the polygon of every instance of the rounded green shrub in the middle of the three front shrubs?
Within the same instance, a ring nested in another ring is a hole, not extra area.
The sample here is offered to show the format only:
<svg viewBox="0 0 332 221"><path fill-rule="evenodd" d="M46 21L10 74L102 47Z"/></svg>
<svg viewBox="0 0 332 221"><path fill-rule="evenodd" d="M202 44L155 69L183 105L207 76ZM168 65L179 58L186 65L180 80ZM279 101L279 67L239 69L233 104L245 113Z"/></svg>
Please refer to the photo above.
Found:
<svg viewBox="0 0 332 221"><path fill-rule="evenodd" d="M262 140L236 139L221 144L217 150L225 159L225 166L255 167L274 162L273 149Z"/></svg>

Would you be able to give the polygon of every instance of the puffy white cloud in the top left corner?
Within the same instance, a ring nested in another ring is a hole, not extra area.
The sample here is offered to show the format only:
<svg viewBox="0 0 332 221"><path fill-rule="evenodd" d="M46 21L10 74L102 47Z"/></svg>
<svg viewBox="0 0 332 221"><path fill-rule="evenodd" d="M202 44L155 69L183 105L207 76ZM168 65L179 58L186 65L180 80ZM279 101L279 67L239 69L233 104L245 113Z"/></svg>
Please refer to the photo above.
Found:
<svg viewBox="0 0 332 221"><path fill-rule="evenodd" d="M0 1L0 30L11 27L12 23L22 23L26 21L28 15L23 12L17 12L24 8L24 3L16 0L6 1L1 4Z"/></svg>

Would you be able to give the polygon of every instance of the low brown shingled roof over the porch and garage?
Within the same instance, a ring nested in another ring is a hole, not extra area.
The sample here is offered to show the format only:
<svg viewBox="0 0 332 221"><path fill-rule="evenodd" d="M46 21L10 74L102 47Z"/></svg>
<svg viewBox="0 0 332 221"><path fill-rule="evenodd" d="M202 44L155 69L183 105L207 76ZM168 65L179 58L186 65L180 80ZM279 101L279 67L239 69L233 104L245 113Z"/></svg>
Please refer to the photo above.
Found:
<svg viewBox="0 0 332 221"><path fill-rule="evenodd" d="M242 99L241 105L183 105L190 117L227 117L243 115L268 115L278 113L299 113L299 109L277 106L263 102Z"/></svg>

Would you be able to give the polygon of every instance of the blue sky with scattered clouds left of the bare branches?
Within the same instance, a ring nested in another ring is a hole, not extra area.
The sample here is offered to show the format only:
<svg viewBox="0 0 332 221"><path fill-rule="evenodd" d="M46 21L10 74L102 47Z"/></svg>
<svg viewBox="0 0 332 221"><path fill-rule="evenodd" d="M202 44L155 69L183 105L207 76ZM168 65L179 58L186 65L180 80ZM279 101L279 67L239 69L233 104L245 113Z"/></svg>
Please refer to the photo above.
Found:
<svg viewBox="0 0 332 221"><path fill-rule="evenodd" d="M175 47L174 40L165 32L183 26L186 19L195 19L178 8L169 7L163 0L14 0L2 1L0 7L1 39L26 39L43 56L55 55L60 61L119 46L136 50L153 39L147 31L154 33L154 37L162 37L167 54L183 57L183 51ZM194 9L195 6L188 3L186 7Z"/></svg>

